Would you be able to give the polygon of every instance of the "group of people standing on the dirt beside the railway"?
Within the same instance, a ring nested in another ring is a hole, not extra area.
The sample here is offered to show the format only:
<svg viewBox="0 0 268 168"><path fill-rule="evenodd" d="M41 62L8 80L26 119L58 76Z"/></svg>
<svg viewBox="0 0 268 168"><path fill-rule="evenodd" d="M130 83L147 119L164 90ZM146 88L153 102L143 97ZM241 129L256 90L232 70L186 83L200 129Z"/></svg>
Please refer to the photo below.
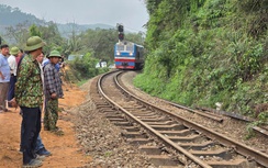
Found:
<svg viewBox="0 0 268 168"><path fill-rule="evenodd" d="M0 112L7 112L7 104L21 109L21 152L23 167L40 167L45 149L41 137L41 117L44 109L44 130L63 135L58 128L58 98L63 97L62 80L56 65L62 58L58 51L52 51L45 65L43 47L46 43L40 36L26 41L25 55L18 47L9 52L1 45L0 54ZM9 100L7 103L7 100Z"/></svg>

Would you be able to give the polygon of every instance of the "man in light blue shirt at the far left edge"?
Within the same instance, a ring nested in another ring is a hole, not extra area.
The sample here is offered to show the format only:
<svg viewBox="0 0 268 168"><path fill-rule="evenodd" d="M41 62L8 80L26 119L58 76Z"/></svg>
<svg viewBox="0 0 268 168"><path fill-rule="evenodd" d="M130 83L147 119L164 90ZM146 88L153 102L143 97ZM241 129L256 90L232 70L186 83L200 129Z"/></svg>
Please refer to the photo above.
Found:
<svg viewBox="0 0 268 168"><path fill-rule="evenodd" d="M0 53L0 112L7 112L8 91L10 81L10 68L8 63L9 46L7 44L1 45Z"/></svg>

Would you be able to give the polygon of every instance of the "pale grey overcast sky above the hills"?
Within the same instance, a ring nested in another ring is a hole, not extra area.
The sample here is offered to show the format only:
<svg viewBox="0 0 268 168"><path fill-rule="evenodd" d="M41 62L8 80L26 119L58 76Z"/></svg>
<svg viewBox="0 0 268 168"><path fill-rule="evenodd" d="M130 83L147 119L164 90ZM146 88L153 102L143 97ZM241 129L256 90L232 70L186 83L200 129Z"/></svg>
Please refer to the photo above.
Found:
<svg viewBox="0 0 268 168"><path fill-rule="evenodd" d="M122 23L130 31L146 32L143 25L148 21L144 0L0 0L0 3L56 23L112 26Z"/></svg>

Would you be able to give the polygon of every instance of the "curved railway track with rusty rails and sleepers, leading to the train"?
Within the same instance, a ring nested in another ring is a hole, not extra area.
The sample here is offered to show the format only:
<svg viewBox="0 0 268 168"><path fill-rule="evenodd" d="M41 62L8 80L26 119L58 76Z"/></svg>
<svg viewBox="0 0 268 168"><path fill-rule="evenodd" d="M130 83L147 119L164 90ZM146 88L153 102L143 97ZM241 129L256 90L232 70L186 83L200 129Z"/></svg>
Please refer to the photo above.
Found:
<svg viewBox="0 0 268 168"><path fill-rule="evenodd" d="M131 94L118 81L120 75L96 79L92 100L156 167L268 167L266 154Z"/></svg>

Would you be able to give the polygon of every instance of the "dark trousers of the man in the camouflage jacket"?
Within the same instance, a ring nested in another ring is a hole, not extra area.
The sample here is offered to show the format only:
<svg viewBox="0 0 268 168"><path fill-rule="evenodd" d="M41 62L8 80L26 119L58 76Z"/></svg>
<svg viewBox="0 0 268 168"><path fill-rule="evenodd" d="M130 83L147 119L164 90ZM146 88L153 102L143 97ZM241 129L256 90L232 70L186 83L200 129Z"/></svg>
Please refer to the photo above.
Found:
<svg viewBox="0 0 268 168"><path fill-rule="evenodd" d="M22 127L22 150L23 150L23 164L29 164L35 158L35 146L37 136L41 131L41 110L40 108L24 108L23 111Z"/></svg>

